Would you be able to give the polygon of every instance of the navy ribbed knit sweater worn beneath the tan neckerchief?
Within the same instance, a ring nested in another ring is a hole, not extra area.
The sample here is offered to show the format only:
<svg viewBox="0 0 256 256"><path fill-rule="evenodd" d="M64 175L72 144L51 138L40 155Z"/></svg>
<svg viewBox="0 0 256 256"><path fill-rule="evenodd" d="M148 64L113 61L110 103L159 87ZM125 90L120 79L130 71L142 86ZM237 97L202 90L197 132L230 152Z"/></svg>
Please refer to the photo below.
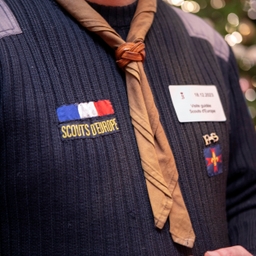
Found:
<svg viewBox="0 0 256 256"><path fill-rule="evenodd" d="M51 0L6 3L23 33L0 39L1 255L203 255L230 244L256 254L256 139L232 53L216 54L189 33L190 14L158 1L145 71L197 237L189 250L168 223L154 227L113 51ZM136 4L93 6L126 36ZM216 85L227 121L179 123L168 86L189 84ZM60 106L103 99L115 113L90 122L116 118L115 133L62 138ZM213 132L223 173L209 177L202 136Z"/></svg>

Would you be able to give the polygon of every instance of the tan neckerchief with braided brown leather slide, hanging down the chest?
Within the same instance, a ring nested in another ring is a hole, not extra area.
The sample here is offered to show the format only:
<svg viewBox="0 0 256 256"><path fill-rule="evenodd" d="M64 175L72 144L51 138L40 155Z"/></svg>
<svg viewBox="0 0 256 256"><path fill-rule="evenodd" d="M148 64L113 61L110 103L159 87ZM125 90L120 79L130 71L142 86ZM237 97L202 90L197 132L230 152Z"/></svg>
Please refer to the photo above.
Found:
<svg viewBox="0 0 256 256"><path fill-rule="evenodd" d="M143 68L144 39L153 22L156 0L139 0L126 43L84 0L56 0L82 26L99 35L116 52L124 69L130 115L146 178L155 225L170 220L174 242L193 247L195 234L178 183L175 160L159 120Z"/></svg>

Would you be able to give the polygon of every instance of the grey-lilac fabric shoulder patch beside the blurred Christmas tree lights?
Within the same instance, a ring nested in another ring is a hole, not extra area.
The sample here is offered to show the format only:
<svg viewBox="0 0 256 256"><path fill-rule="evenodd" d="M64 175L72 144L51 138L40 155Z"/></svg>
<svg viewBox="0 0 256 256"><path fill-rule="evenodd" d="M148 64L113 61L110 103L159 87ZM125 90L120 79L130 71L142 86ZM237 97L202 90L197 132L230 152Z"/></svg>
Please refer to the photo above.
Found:
<svg viewBox="0 0 256 256"><path fill-rule="evenodd" d="M213 47L217 56L228 61L229 47L221 35L201 18L185 13L178 8L173 8L184 23L189 35L207 40Z"/></svg>

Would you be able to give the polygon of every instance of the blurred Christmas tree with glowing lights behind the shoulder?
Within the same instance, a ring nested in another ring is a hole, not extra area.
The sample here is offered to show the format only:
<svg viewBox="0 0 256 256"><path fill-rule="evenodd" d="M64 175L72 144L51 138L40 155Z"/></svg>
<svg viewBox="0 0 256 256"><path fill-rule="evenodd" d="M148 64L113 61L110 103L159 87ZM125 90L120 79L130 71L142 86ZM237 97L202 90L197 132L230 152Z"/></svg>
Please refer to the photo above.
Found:
<svg viewBox="0 0 256 256"><path fill-rule="evenodd" d="M240 85L256 127L256 0L165 1L205 19L233 48Z"/></svg>

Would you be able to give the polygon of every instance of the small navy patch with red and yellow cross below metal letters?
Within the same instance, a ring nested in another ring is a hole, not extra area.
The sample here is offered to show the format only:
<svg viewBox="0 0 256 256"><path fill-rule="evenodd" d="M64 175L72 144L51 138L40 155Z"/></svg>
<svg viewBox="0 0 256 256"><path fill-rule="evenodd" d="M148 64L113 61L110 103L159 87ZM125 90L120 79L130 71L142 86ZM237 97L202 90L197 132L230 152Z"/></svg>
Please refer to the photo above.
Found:
<svg viewBox="0 0 256 256"><path fill-rule="evenodd" d="M222 153L220 145L217 144L205 148L204 157L209 177L222 173Z"/></svg>

